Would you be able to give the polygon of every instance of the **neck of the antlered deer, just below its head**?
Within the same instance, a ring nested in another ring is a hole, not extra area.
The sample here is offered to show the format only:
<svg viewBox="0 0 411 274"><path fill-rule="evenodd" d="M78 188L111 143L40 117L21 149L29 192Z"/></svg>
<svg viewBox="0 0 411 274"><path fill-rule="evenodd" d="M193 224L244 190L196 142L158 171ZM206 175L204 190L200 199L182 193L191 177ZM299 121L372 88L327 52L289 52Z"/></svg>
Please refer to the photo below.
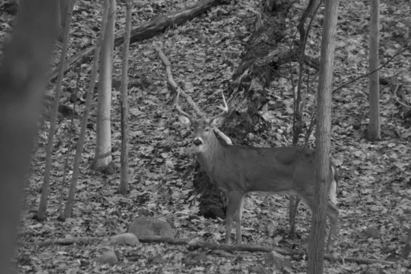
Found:
<svg viewBox="0 0 411 274"><path fill-rule="evenodd" d="M224 158L225 146L214 134L203 146L205 147L203 147L202 151L197 152L196 156L201 167L210 175L213 169L218 167L219 162Z"/></svg>

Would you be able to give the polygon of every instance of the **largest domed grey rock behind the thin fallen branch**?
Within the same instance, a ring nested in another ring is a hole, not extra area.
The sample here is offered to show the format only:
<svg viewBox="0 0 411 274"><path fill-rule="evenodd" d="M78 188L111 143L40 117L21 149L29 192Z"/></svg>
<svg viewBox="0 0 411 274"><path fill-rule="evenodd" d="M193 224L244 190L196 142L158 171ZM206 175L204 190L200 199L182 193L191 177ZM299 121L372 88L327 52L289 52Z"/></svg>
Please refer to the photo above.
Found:
<svg viewBox="0 0 411 274"><path fill-rule="evenodd" d="M160 221L153 217L144 216L138 217L129 225L129 233L137 236L162 236L167 238L174 238L173 228L167 222Z"/></svg>

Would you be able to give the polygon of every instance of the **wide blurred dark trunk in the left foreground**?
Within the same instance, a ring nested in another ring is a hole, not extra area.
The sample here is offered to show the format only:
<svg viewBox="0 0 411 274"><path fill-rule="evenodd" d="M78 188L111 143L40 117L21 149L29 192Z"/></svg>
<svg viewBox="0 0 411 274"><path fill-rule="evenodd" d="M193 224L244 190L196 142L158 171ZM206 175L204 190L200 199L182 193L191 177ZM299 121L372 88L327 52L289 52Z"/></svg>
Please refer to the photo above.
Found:
<svg viewBox="0 0 411 274"><path fill-rule="evenodd" d="M46 73L57 34L54 0L21 0L0 65L0 273L11 273L14 240Z"/></svg>

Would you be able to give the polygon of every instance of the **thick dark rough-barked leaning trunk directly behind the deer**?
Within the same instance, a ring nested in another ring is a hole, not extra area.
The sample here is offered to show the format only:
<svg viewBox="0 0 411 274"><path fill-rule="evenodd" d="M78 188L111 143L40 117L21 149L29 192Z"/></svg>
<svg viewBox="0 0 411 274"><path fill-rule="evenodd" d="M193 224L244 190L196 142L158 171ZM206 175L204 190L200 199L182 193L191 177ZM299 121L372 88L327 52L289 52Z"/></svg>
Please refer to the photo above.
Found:
<svg viewBox="0 0 411 274"><path fill-rule="evenodd" d="M256 31L251 35L242 62L232 77L234 84L230 87L227 99L229 114L221 131L232 138L234 144L249 145L247 134L255 131L257 123L259 132L271 127L270 123L261 119L258 111L268 103L266 88L273 81L273 71L277 65L288 62L294 55L289 49L277 48L277 42L283 38L286 27L283 22L291 5L292 1L289 1L281 6L273 4L265 7L266 15L276 20L267 18L262 21L258 16ZM277 22L277 25L272 25L273 22ZM210 182L198 163L193 185L201 193L199 214L225 219L225 193Z"/></svg>

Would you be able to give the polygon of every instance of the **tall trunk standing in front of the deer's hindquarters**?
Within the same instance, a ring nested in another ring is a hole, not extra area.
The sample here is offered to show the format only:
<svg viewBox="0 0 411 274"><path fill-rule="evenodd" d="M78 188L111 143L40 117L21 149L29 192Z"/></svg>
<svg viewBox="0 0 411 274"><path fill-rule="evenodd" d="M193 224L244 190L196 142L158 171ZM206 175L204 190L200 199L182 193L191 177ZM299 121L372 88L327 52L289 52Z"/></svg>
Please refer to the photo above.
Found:
<svg viewBox="0 0 411 274"><path fill-rule="evenodd" d="M308 250L308 274L323 273L326 204L328 201L329 153L331 151L331 99L332 74L334 69L335 36L338 18L338 0L325 2L323 40L321 42L321 61L319 91L317 93L316 127L316 184L314 209Z"/></svg>

